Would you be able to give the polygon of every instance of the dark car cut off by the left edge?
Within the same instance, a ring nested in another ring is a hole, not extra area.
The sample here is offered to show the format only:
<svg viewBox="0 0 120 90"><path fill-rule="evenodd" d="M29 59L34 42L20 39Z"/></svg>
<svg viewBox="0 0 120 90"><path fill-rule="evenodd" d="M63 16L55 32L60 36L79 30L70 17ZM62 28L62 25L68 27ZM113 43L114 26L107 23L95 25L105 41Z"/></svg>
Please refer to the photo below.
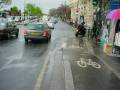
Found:
<svg viewBox="0 0 120 90"><path fill-rule="evenodd" d="M0 38L9 39L11 36L18 38L19 29L12 22L0 22Z"/></svg>

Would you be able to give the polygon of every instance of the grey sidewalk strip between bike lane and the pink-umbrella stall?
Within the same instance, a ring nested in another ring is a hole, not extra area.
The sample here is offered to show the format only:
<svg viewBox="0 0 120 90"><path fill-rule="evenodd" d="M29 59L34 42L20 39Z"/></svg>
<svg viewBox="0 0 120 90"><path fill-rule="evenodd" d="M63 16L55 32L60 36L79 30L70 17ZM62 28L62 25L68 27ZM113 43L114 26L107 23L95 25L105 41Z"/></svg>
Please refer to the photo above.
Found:
<svg viewBox="0 0 120 90"><path fill-rule="evenodd" d="M110 70L112 70L120 79L120 57L109 56L103 52L103 49L88 40L94 53L105 63Z"/></svg>

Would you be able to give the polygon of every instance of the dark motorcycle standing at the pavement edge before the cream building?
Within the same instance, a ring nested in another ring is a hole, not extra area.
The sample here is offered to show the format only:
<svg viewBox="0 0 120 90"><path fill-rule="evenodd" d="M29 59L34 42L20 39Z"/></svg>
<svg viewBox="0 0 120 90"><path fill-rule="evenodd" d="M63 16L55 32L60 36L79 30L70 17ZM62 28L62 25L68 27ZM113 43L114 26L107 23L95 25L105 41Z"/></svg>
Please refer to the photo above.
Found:
<svg viewBox="0 0 120 90"><path fill-rule="evenodd" d="M82 22L81 24L78 25L77 27L77 32L75 33L75 36L78 37L78 35L82 35L82 37L85 36L86 29L84 27L85 22Z"/></svg>

